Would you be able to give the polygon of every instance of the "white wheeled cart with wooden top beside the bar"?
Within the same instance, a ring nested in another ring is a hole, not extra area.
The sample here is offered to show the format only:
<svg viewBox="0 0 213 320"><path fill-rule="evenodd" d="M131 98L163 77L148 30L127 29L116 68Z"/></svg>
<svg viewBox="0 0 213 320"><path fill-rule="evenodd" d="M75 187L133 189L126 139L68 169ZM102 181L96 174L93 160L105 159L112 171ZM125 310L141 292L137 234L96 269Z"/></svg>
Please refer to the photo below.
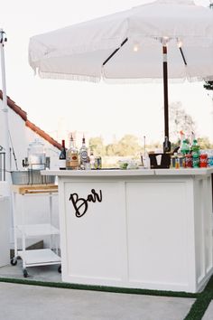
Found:
<svg viewBox="0 0 213 320"><path fill-rule="evenodd" d="M47 266L47 265L60 265L59 256L59 229L51 224L52 217L52 197L58 194L58 187L55 184L38 184L38 185L14 185L13 186L13 202L14 202L14 258L11 259L11 264L17 264L17 259L20 257L23 260L23 277L28 276L28 267ZM41 195L49 197L49 217L50 223L45 224L26 224L26 212L24 206L24 197ZM21 211L22 211L22 224L17 223L17 196L22 197ZM18 249L17 239L18 234L22 237L22 249ZM50 249L26 249L26 239L35 238L39 236L50 236ZM54 244L56 252L52 248ZM57 239L58 238L58 239ZM61 272L59 266L58 271Z"/></svg>

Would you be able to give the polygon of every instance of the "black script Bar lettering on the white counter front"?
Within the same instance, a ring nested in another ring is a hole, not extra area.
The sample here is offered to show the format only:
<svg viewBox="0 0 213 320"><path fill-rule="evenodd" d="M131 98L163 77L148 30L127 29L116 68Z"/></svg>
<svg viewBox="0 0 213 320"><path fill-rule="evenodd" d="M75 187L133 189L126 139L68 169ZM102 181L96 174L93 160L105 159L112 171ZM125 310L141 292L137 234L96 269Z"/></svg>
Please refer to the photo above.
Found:
<svg viewBox="0 0 213 320"><path fill-rule="evenodd" d="M95 189L92 189L87 199L79 198L78 193L71 193L69 201L73 204L77 218L80 218L88 211L88 202L102 202L102 192L100 190L100 194L98 194Z"/></svg>

